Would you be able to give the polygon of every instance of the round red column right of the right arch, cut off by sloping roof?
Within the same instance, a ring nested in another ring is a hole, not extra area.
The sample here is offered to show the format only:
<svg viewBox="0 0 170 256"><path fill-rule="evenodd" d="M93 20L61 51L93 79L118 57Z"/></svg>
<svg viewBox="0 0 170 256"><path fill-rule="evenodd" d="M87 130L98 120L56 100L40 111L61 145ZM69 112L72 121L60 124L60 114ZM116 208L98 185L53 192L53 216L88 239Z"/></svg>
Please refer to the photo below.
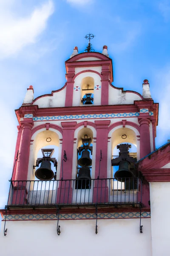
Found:
<svg viewBox="0 0 170 256"><path fill-rule="evenodd" d="M150 118L138 117L138 122L140 124L140 158L143 158L150 154Z"/></svg>

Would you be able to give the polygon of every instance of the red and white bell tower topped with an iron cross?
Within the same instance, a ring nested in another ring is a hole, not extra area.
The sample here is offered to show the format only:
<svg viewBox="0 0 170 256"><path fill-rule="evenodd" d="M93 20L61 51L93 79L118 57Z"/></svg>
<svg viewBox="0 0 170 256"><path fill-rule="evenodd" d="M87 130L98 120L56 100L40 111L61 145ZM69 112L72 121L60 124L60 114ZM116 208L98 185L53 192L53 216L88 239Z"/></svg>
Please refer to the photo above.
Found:
<svg viewBox="0 0 170 256"><path fill-rule="evenodd" d="M159 207L153 202L159 201L155 186L161 195L169 191L159 182L170 182L170 143L156 149L158 103L147 79L142 95L116 87L108 47L95 52L94 35L85 38L85 52L74 47L65 61L63 87L34 99L36 85L29 86L15 111L14 168L1 210L5 256L11 248L18 256L23 250L26 256L53 256L54 244L61 255L86 256L82 239L99 256L111 250L151 256L151 246L159 244L151 241L151 227L158 232ZM113 242L113 249L105 246Z"/></svg>

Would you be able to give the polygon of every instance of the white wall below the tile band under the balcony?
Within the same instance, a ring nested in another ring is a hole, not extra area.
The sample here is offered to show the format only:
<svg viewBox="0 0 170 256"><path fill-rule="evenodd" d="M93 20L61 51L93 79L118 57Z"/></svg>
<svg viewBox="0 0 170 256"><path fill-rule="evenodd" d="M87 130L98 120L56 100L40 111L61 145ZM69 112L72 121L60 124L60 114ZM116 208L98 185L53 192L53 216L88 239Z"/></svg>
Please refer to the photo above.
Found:
<svg viewBox="0 0 170 256"><path fill-rule="evenodd" d="M3 256L151 256L150 218L59 221L8 221L7 235L0 232L0 251ZM159 256L165 254L159 254ZM167 254L166 254L167 255ZM168 254L169 255L169 254Z"/></svg>

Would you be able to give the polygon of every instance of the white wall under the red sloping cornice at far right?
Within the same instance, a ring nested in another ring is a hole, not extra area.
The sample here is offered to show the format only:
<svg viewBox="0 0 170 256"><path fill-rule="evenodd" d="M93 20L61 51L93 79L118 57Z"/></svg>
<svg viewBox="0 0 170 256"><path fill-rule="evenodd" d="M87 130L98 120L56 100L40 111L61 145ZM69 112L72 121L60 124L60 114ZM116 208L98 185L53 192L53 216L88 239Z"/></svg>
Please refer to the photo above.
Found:
<svg viewBox="0 0 170 256"><path fill-rule="evenodd" d="M150 182L152 256L170 255L170 182Z"/></svg>

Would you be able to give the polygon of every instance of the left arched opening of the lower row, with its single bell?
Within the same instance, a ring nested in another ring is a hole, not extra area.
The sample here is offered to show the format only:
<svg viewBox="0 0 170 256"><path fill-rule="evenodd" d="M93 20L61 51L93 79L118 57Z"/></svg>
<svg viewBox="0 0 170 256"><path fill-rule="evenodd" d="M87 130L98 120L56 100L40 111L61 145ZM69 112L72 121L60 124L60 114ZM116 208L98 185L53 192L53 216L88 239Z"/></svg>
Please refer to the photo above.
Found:
<svg viewBox="0 0 170 256"><path fill-rule="evenodd" d="M50 130L39 132L34 139L32 148L33 161L31 162L34 163L34 168L31 172L32 181L27 184L29 204L56 203L58 155L58 134Z"/></svg>

